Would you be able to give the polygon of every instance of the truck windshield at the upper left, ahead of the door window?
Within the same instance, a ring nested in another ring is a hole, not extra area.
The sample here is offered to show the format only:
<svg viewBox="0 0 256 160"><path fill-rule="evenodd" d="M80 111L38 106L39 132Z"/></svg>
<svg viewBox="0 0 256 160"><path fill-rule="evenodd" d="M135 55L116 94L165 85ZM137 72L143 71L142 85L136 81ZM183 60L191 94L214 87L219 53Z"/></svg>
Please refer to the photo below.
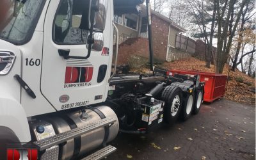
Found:
<svg viewBox="0 0 256 160"><path fill-rule="evenodd" d="M15 12L8 25L0 32L0 38L12 44L28 42L35 30L45 0L15 1Z"/></svg>

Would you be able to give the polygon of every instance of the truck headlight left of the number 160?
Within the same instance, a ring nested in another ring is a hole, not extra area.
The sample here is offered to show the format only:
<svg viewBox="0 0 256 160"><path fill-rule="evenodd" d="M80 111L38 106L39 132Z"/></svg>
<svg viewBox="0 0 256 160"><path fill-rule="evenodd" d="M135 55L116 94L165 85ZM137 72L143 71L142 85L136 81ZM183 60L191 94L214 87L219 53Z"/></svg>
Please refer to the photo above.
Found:
<svg viewBox="0 0 256 160"><path fill-rule="evenodd" d="M15 54L9 51L0 51L0 75L10 72L15 61Z"/></svg>

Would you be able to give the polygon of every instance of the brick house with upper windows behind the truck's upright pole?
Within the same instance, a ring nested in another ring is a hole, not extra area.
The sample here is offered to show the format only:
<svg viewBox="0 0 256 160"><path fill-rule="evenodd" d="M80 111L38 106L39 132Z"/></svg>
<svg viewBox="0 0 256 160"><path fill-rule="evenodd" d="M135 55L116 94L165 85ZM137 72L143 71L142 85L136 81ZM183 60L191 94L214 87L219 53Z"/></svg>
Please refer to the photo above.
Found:
<svg viewBox="0 0 256 160"><path fill-rule="evenodd" d="M143 4L140 8L140 13L119 15L115 13L114 21L119 31L118 63L120 65L127 64L131 55L148 58L147 9ZM175 48L177 33L186 32L186 29L154 10L151 10L151 16L154 61L163 62L168 59L170 50Z"/></svg>

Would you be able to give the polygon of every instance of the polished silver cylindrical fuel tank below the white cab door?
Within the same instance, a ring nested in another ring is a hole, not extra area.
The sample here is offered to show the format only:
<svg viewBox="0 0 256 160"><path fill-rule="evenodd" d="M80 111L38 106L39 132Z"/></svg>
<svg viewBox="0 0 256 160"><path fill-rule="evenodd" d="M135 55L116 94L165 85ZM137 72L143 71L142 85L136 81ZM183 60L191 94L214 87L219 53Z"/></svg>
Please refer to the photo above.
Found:
<svg viewBox="0 0 256 160"><path fill-rule="evenodd" d="M119 124L118 118L115 112L108 106L98 106L95 107L99 109L106 117L115 118L116 122L109 127L109 135L107 142L113 140L118 134ZM92 124L92 122L97 122L100 120L98 113L93 111L93 109L84 109L84 111L75 111L73 113L68 113L67 115L61 117L48 118L47 122L50 122L54 127L56 134L69 131L76 127L82 127L84 125ZM80 137L68 140L65 145L60 146L60 156L61 159L70 159L77 156L81 156L91 150L100 147L102 145L105 136L105 129L101 127L92 132L83 134Z"/></svg>

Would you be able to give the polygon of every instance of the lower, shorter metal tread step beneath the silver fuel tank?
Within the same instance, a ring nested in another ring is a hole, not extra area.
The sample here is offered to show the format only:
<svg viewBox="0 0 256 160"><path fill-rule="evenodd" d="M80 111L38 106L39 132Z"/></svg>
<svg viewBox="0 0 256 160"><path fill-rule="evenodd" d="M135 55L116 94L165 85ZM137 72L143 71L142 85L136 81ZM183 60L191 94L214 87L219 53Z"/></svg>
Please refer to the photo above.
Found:
<svg viewBox="0 0 256 160"><path fill-rule="evenodd" d="M106 156L109 156L109 154L112 154L116 151L116 148L108 145L107 147L102 148L101 150L98 150L97 152L94 152L90 156L87 156L81 160L99 160L103 159Z"/></svg>

